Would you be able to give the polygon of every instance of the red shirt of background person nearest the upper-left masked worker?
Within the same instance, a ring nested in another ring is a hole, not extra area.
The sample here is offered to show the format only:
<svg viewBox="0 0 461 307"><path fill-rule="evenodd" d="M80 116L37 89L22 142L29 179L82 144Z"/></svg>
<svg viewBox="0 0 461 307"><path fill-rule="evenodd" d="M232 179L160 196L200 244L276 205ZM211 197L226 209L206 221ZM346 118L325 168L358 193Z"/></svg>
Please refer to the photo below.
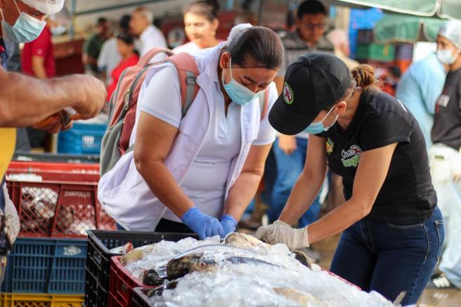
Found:
<svg viewBox="0 0 461 307"><path fill-rule="evenodd" d="M46 77L51 78L56 75L56 63L54 62L53 43L51 43L51 30L44 27L37 39L24 44L22 49L22 72L34 76L32 71L32 56L44 58Z"/></svg>

